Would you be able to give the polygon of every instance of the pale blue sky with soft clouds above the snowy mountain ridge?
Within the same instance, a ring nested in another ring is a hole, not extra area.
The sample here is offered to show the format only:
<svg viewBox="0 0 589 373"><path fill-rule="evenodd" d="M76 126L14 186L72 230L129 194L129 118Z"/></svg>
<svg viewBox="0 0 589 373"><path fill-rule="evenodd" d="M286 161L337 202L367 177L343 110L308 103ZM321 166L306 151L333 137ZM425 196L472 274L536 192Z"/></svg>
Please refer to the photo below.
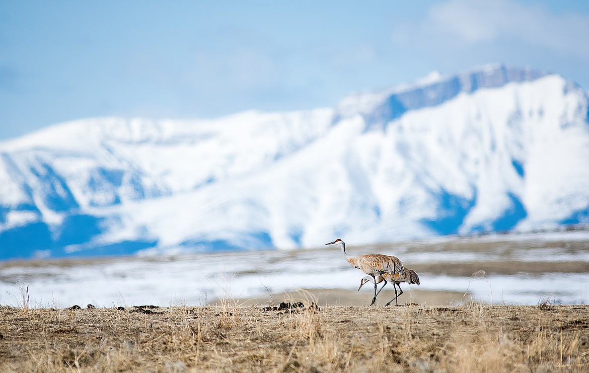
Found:
<svg viewBox="0 0 589 373"><path fill-rule="evenodd" d="M105 115L336 105L489 62L589 88L589 1L0 0L0 140Z"/></svg>

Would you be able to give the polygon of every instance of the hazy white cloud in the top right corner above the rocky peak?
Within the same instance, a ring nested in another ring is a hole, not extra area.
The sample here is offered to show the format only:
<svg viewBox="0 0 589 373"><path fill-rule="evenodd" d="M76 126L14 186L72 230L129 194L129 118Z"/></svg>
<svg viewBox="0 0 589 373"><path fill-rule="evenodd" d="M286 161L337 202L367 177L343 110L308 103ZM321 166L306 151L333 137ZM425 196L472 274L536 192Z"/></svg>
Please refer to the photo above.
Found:
<svg viewBox="0 0 589 373"><path fill-rule="evenodd" d="M545 5L517 0L446 0L432 5L416 22L396 22L392 38L397 45L426 52L481 46L495 53L540 48L587 60L589 14L556 13Z"/></svg>

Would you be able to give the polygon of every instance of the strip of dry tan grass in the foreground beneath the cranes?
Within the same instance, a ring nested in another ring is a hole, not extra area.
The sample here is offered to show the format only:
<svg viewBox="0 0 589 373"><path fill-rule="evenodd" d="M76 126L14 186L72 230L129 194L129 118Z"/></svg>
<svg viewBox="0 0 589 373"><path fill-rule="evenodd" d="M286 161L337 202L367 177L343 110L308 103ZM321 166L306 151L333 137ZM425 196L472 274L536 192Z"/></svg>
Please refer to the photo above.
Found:
<svg viewBox="0 0 589 373"><path fill-rule="evenodd" d="M2 372L577 372L588 364L589 306L0 307Z"/></svg>

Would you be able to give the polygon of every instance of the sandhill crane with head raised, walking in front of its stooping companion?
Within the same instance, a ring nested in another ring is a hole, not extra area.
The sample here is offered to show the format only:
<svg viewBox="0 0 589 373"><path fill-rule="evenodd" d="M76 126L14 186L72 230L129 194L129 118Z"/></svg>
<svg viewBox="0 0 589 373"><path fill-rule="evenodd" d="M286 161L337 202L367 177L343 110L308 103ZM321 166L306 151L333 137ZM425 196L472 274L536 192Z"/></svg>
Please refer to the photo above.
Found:
<svg viewBox="0 0 589 373"><path fill-rule="evenodd" d="M372 282L374 282L374 298L372 299L372 303L370 303L371 306L376 305L376 276L380 276L383 273L404 274L403 263L401 263L401 260L396 256L383 254L349 256L348 253L346 253L346 244L339 238L333 242L326 243L325 245L339 245L342 248L343 258L348 260L348 263L350 263L352 267L358 268L366 273L366 275L372 276Z"/></svg>

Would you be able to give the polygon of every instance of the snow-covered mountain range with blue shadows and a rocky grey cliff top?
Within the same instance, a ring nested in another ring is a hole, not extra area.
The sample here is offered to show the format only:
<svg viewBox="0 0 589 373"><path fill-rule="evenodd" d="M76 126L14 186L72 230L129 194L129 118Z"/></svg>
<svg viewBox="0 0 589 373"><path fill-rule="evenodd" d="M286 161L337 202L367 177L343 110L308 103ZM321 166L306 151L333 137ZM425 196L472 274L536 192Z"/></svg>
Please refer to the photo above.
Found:
<svg viewBox="0 0 589 373"><path fill-rule="evenodd" d="M488 65L335 108L58 124L0 143L0 258L587 223L588 103L560 75Z"/></svg>

